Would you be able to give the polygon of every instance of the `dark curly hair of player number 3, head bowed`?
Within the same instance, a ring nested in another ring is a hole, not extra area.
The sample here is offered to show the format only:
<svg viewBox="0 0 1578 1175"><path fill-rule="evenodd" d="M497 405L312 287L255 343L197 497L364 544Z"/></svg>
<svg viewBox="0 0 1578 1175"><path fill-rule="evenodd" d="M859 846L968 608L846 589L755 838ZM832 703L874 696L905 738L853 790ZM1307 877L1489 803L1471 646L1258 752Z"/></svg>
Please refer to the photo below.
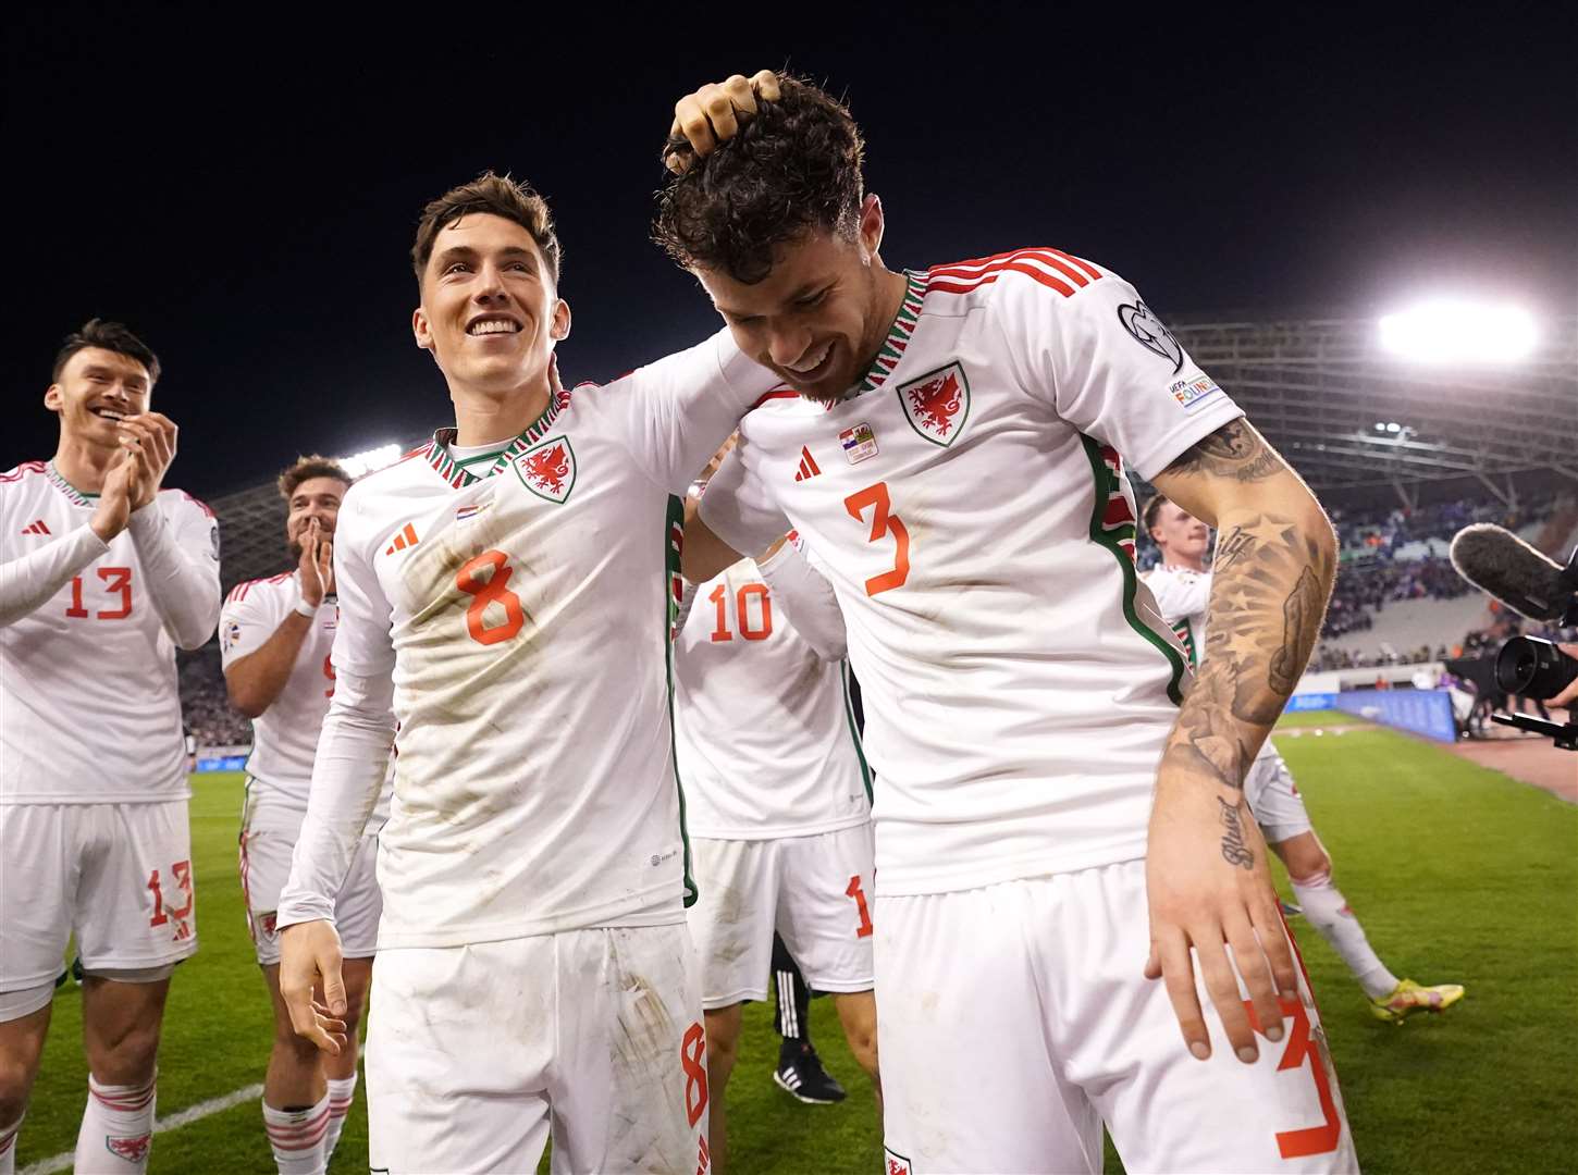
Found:
<svg viewBox="0 0 1578 1175"><path fill-rule="evenodd" d="M858 232L860 128L811 82L780 74L778 87L781 98L761 103L739 134L658 192L652 238L680 267L754 285L780 244L816 230Z"/></svg>

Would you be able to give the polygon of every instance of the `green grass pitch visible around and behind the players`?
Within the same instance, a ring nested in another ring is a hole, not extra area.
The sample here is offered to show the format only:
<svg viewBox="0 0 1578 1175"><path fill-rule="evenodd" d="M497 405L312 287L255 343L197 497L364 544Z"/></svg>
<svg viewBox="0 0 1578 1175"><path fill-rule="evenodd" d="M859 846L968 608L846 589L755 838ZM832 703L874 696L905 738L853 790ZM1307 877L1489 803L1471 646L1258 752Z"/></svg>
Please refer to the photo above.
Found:
<svg viewBox="0 0 1578 1175"><path fill-rule="evenodd" d="M1578 809L1384 729L1292 733L1352 726L1349 714L1291 719L1278 748L1370 942L1401 976L1468 986L1468 998L1441 1017L1382 1024L1326 942L1294 919L1365 1170L1565 1169L1578 1137ZM260 1082L268 1055L268 1005L235 875L240 776L196 776L194 792L202 946L170 986L161 1118ZM746 1008L745 1020L729 1085L734 1172L881 1170L869 1087L830 1003L813 1003L811 1025L849 1088L841 1106L800 1106L778 1090L767 1006ZM76 1142L87 1093L80 1027L80 1000L68 984L57 994L19 1170ZM251 1099L159 1134L150 1166L275 1170ZM333 1170L365 1169L358 1090ZM1109 1153L1108 1170L1117 1169Z"/></svg>

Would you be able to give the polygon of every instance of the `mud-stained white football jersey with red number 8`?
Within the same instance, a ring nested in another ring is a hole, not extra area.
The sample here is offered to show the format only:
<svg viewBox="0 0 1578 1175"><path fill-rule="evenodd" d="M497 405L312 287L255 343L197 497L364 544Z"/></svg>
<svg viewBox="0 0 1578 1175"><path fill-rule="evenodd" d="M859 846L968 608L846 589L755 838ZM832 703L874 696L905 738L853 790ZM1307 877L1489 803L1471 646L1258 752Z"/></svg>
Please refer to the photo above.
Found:
<svg viewBox="0 0 1578 1175"><path fill-rule="evenodd" d="M333 662L393 673L399 722L380 948L683 919L674 495L770 386L720 333L560 393L481 476L445 429L346 494Z"/></svg>

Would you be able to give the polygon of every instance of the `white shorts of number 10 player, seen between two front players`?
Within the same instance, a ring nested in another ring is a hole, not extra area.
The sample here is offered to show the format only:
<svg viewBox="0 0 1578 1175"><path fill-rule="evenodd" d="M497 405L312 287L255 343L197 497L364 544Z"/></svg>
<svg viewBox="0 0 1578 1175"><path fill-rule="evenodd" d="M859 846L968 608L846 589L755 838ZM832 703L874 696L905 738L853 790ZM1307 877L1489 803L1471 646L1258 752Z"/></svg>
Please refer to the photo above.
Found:
<svg viewBox="0 0 1578 1175"><path fill-rule="evenodd" d="M871 990L871 825L780 841L691 841L702 1006L765 1000L773 929L819 992Z"/></svg>

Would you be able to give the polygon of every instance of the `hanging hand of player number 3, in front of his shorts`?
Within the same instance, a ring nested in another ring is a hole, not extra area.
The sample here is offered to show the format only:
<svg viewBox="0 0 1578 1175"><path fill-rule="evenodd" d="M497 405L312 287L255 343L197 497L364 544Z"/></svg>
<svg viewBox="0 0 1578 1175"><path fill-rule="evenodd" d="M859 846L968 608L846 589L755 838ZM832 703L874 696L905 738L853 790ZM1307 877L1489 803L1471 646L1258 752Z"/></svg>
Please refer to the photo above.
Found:
<svg viewBox="0 0 1578 1175"><path fill-rule="evenodd" d="M1210 1057L1195 986L1198 961L1228 1044L1239 1060L1253 1063L1259 1047L1239 994L1239 976L1270 1041L1283 1035L1278 994L1297 1000L1299 978L1266 863L1266 842L1242 792L1187 778L1158 782L1146 893L1150 904L1146 978L1166 984L1188 1050L1201 1060Z"/></svg>

